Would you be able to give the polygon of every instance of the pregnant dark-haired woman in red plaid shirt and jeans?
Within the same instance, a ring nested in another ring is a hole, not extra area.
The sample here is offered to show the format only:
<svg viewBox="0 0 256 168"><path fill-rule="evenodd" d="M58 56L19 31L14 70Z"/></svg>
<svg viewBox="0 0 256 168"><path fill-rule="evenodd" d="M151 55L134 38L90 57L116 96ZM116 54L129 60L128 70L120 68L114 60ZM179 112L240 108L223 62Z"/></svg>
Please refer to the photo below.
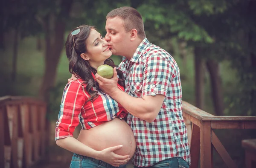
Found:
<svg viewBox="0 0 256 168"><path fill-rule="evenodd" d="M74 153L70 168L125 168L136 143L131 127L125 122L127 111L99 89L95 74L100 65L115 67L109 58L107 42L93 26L79 26L65 43L69 70L79 76L63 92L56 122L57 145ZM118 87L124 90L122 72ZM82 126L78 139L76 126Z"/></svg>

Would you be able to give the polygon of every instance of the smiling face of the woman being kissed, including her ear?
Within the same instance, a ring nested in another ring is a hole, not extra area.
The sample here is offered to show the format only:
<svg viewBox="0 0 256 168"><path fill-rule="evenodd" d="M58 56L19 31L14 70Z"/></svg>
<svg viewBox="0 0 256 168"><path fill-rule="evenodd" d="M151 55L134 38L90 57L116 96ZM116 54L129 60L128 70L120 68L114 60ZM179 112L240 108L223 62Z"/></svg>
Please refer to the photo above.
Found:
<svg viewBox="0 0 256 168"><path fill-rule="evenodd" d="M87 52L81 54L81 58L87 60L91 67L98 68L112 55L108 48L108 42L95 29L91 29L86 40Z"/></svg>

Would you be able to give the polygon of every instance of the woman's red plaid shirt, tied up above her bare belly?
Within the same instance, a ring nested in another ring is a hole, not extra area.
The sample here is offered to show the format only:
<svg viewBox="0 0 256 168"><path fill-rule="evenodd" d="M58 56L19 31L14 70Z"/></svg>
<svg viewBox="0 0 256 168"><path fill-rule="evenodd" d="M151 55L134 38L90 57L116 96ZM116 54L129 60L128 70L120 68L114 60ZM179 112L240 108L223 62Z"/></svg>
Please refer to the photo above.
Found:
<svg viewBox="0 0 256 168"><path fill-rule="evenodd" d="M99 97L93 103L85 103L90 95L82 82L81 79L70 81L64 89L56 122L55 140L73 136L79 122L82 129L90 129L121 114L124 116L122 112L125 112L125 109L119 103L95 88L93 90L98 91ZM123 87L118 87L124 91Z"/></svg>

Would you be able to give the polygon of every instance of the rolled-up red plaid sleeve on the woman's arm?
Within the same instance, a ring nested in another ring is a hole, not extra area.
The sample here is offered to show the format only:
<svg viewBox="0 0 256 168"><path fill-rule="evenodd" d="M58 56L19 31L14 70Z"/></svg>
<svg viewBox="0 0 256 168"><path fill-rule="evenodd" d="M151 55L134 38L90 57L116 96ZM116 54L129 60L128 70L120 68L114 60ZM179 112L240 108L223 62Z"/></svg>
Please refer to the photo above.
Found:
<svg viewBox="0 0 256 168"><path fill-rule="evenodd" d="M78 82L71 81L64 89L56 122L55 140L73 136L73 132L79 124L81 109L85 103L81 87Z"/></svg>

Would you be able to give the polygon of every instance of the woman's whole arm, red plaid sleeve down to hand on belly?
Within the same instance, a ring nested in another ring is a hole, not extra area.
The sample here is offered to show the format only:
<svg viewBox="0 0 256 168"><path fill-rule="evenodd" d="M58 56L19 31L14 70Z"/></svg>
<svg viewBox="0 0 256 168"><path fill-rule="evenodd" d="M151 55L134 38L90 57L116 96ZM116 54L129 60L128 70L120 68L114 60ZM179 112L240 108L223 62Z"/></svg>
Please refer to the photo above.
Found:
<svg viewBox="0 0 256 168"><path fill-rule="evenodd" d="M83 88L79 82L70 82L67 84L62 96L58 121L56 122L56 144L73 153L93 157L113 166L123 164L129 159L129 156L120 156L113 152L122 148L122 146L96 151L73 138L73 132L79 124L79 115L81 114L81 109L85 101L86 99L83 93Z"/></svg>

